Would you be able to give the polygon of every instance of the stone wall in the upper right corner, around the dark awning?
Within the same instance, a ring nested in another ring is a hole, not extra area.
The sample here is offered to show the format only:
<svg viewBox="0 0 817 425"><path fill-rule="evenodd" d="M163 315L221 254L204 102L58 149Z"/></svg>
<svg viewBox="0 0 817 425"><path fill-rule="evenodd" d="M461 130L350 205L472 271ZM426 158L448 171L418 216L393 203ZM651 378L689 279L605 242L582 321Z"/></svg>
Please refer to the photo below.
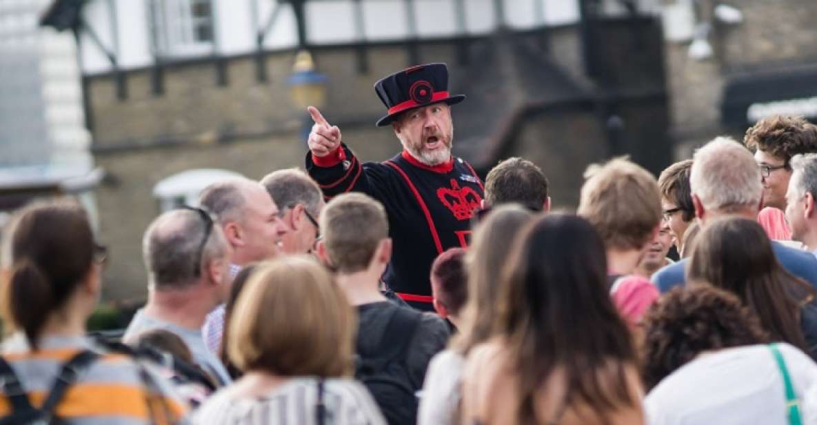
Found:
<svg viewBox="0 0 817 425"><path fill-rule="evenodd" d="M667 87L678 159L689 157L695 146L714 136L742 136L745 129L721 125L723 89L730 77L817 64L817 2L707 0L701 2L703 16L712 16L712 8L720 3L742 11L743 22L713 25L712 58L693 60L687 55L689 42L667 43Z"/></svg>

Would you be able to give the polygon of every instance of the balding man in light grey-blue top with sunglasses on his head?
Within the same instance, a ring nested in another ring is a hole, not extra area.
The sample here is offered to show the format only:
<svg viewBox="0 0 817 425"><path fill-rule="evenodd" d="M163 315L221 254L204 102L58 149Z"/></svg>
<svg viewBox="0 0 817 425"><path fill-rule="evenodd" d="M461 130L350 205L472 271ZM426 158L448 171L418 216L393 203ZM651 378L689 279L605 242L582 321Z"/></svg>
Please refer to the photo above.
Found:
<svg viewBox="0 0 817 425"><path fill-rule="evenodd" d="M175 333L195 363L226 385L230 375L201 333L208 313L230 293L232 250L213 220L203 209L183 208L163 213L148 226L142 240L148 302L136 311L123 341L136 342L153 329Z"/></svg>

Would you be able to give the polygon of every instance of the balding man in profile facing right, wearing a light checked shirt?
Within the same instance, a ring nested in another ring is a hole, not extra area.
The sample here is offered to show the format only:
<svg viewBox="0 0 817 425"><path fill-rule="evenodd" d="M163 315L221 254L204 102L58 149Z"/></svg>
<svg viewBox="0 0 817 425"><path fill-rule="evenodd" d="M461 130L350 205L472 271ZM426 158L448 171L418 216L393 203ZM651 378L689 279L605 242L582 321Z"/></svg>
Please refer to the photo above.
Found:
<svg viewBox="0 0 817 425"><path fill-rule="evenodd" d="M199 204L211 212L232 248L230 282L243 266L282 255L288 226L264 186L248 178L231 178L206 187ZM208 315L202 332L208 348L218 353L224 333L224 305Z"/></svg>

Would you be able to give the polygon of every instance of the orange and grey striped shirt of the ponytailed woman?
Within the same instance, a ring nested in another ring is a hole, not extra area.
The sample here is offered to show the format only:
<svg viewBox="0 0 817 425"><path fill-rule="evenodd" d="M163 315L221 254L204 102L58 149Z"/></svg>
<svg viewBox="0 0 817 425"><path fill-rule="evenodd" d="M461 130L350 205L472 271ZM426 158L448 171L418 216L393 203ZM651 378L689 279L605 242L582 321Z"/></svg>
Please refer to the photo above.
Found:
<svg viewBox="0 0 817 425"><path fill-rule="evenodd" d="M173 423L187 414L185 402L176 396L169 382L160 378L152 365L139 365L121 354L105 353L95 347L90 338L47 336L38 351L30 351L20 333L2 344L2 356L14 369L34 407L42 405L51 392L62 365L81 350L102 353L68 388L56 406L57 417L74 425L145 425L162 423L163 416L153 418L148 403L150 397L167 406ZM154 378L154 390L145 388L141 367ZM11 414L8 398L0 387L0 418ZM155 419L155 420L154 420ZM167 421L165 421L167 422Z"/></svg>

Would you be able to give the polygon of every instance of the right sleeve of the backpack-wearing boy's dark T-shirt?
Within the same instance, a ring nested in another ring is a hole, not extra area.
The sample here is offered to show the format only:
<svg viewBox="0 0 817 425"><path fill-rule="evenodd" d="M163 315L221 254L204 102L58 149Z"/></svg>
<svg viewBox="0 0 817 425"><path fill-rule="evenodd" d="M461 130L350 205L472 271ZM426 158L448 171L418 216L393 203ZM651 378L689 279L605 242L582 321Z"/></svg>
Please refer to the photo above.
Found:
<svg viewBox="0 0 817 425"><path fill-rule="evenodd" d="M433 313L422 314L412 344L406 353L408 374L414 388L422 388L431 357L443 351L449 342L449 336L449 327L440 316Z"/></svg>

